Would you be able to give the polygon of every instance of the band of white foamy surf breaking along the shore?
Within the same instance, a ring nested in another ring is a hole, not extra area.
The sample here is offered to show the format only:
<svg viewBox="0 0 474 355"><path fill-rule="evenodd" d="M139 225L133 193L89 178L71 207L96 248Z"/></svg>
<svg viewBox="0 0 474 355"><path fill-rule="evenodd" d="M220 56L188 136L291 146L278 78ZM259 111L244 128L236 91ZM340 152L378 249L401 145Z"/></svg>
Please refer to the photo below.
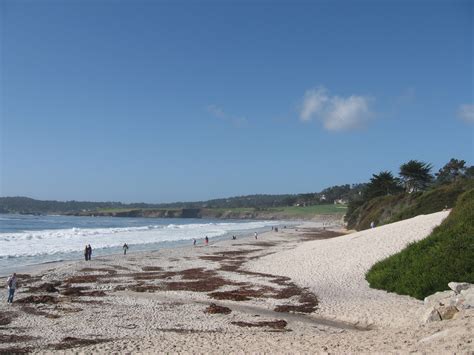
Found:
<svg viewBox="0 0 474 355"><path fill-rule="evenodd" d="M276 225L277 222L195 223L148 225L125 228L69 228L0 233L0 258L53 255L78 252L86 244L93 248L120 247L124 243L151 244L179 240L218 237L230 232L242 232Z"/></svg>

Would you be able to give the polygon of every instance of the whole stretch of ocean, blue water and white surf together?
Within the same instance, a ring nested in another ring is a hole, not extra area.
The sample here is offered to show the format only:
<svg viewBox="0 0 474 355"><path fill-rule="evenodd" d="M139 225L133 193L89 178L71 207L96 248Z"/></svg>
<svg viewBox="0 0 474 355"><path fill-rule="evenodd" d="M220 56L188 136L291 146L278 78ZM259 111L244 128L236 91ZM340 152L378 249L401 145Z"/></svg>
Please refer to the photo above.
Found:
<svg viewBox="0 0 474 355"><path fill-rule="evenodd" d="M0 214L0 275L21 268L84 258L90 244L92 257L162 248L198 245L205 236L211 241L244 236L279 226L282 221L236 221L183 218L119 218L32 216Z"/></svg>

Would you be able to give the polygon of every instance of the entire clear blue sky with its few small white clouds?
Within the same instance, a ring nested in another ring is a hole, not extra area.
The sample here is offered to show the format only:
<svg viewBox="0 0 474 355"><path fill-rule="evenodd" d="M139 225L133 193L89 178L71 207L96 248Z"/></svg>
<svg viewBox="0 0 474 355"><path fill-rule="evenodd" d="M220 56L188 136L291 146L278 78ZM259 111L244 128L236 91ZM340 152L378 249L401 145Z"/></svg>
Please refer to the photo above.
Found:
<svg viewBox="0 0 474 355"><path fill-rule="evenodd" d="M472 165L473 4L0 0L0 196L197 201Z"/></svg>

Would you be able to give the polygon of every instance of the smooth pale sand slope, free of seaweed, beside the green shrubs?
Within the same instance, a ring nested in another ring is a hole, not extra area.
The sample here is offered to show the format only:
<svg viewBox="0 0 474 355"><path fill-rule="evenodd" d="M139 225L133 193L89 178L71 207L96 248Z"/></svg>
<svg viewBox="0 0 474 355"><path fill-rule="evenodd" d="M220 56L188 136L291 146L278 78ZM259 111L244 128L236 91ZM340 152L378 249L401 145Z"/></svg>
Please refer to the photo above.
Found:
<svg viewBox="0 0 474 355"><path fill-rule="evenodd" d="M448 214L422 215L339 238L307 242L246 267L288 276L309 287L319 296L319 315L375 326L407 326L420 318L423 302L371 289L365 273L377 261L428 236Z"/></svg>

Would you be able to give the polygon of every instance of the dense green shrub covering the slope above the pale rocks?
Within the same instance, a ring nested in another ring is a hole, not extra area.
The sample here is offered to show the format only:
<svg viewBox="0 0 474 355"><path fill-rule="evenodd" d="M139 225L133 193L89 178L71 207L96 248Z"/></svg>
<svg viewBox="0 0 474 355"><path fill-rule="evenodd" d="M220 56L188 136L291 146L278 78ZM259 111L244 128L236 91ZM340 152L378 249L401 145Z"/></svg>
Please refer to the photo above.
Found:
<svg viewBox="0 0 474 355"><path fill-rule="evenodd" d="M366 279L370 287L418 299L451 281L474 283L474 189L430 236L375 264Z"/></svg>

